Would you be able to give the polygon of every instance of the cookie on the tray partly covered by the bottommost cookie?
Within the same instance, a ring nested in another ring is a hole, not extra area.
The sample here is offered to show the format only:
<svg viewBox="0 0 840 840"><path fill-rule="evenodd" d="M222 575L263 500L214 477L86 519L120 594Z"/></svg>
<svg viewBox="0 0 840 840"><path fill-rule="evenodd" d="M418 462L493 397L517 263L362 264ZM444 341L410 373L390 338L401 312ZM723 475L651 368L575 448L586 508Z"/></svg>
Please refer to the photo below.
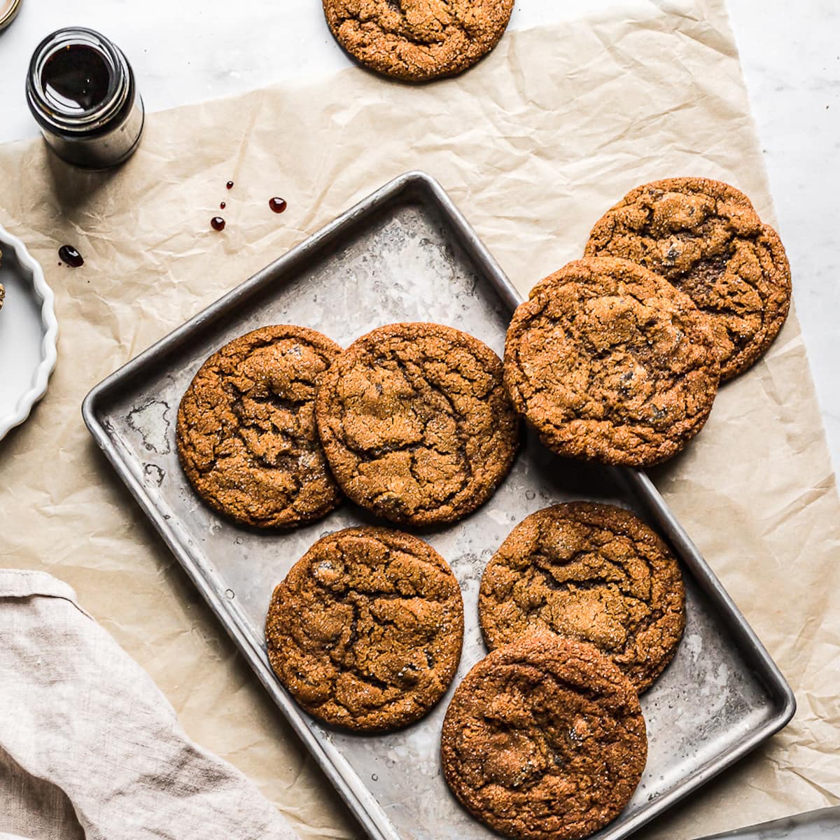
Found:
<svg viewBox="0 0 840 840"><path fill-rule="evenodd" d="M668 547L632 513L575 501L520 522L487 564L481 632L498 648L536 631L589 642L639 692L674 657L685 591Z"/></svg>

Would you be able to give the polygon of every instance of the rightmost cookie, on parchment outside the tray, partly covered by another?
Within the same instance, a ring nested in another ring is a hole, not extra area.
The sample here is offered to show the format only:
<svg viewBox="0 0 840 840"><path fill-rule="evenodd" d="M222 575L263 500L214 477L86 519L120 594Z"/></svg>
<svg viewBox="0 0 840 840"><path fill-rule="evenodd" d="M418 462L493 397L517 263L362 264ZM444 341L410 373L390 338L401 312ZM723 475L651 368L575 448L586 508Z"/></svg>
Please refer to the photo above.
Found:
<svg viewBox="0 0 840 840"><path fill-rule="evenodd" d="M639 186L592 228L585 254L633 260L684 291L709 318L723 381L759 360L790 308L790 265L778 234L743 192L721 181Z"/></svg>

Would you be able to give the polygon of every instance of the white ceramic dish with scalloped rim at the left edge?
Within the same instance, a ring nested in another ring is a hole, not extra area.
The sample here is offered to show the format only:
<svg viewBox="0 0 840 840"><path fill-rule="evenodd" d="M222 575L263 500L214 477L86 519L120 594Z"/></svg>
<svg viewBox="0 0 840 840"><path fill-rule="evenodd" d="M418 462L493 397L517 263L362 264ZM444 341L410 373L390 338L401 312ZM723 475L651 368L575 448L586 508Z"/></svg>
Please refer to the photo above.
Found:
<svg viewBox="0 0 840 840"><path fill-rule="evenodd" d="M0 225L0 440L44 396L55 368L58 321L41 266Z"/></svg>

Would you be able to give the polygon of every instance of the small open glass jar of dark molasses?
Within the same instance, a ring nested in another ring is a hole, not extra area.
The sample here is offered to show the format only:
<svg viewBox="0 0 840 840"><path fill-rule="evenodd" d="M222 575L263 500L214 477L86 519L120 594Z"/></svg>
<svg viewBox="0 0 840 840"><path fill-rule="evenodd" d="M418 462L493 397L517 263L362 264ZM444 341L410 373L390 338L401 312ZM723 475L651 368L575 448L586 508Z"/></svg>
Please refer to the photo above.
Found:
<svg viewBox="0 0 840 840"><path fill-rule="evenodd" d="M116 166L143 134L134 72L92 29L59 29L41 41L29 62L26 99L55 154L76 166Z"/></svg>

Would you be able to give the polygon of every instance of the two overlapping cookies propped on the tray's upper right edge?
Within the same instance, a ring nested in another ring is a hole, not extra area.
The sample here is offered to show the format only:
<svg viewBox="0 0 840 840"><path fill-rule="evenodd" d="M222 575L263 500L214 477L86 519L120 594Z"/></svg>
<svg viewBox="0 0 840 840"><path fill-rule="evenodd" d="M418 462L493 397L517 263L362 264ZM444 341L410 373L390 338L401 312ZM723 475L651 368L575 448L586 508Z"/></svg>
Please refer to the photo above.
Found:
<svg viewBox="0 0 840 840"><path fill-rule="evenodd" d="M507 333L512 401L558 454L648 467L700 431L719 382L769 348L790 265L748 197L701 178L638 187Z"/></svg>

